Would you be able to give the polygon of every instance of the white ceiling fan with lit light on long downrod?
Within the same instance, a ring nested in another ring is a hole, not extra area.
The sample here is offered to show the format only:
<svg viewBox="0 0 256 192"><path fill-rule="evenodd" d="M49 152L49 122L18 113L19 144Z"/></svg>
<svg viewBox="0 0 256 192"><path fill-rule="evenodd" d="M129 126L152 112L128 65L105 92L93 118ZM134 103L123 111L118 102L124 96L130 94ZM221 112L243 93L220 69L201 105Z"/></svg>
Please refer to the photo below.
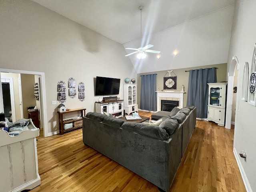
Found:
<svg viewBox="0 0 256 192"><path fill-rule="evenodd" d="M142 15L143 6L140 6L139 9L140 9L140 40L141 40L141 39L142 39L142 38L141 38L141 37L142 37L141 15ZM159 54L160 51L150 50L150 49L149 49L149 48L151 48L151 47L153 47L153 46L154 46L154 45L148 44L148 45L146 45L146 46L144 46L144 47L140 47L140 48L137 48L137 49L136 49L136 48L125 48L125 49L129 49L129 50L135 50L134 52L132 52L132 53L130 53L130 54L127 54L127 55L125 55L125 56L127 57L127 56L130 56L130 55L132 55L132 54L139 53L139 54L137 55L137 58L138 58L138 59L144 59L144 58L146 57L145 52Z"/></svg>

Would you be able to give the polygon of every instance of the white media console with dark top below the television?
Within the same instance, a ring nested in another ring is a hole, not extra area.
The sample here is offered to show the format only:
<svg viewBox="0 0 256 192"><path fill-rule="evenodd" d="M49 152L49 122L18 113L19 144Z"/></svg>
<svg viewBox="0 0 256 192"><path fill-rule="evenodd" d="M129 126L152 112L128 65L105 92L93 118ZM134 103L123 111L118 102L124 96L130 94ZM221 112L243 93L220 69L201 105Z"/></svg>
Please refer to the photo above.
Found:
<svg viewBox="0 0 256 192"><path fill-rule="evenodd" d="M95 102L95 112L104 112L114 115L119 118L124 116L124 100L117 100L111 102Z"/></svg>

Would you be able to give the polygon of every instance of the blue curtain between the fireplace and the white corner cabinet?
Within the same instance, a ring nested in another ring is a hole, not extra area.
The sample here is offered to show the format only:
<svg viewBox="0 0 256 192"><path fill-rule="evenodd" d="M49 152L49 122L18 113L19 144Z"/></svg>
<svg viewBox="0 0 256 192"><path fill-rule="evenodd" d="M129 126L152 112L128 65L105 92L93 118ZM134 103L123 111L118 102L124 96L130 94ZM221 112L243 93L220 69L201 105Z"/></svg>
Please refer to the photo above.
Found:
<svg viewBox="0 0 256 192"><path fill-rule="evenodd" d="M208 84L216 83L216 68L189 71L187 106L196 106L196 117L207 118Z"/></svg>

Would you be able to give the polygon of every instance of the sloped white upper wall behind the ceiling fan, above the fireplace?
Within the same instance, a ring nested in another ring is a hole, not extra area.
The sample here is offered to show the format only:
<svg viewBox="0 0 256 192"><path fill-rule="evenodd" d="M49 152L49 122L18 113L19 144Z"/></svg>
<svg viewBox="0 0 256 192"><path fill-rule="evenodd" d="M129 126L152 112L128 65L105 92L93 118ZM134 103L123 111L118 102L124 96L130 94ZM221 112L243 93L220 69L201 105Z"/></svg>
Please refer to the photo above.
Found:
<svg viewBox="0 0 256 192"><path fill-rule="evenodd" d="M150 49L160 50L159 60L152 53L143 60L136 59L136 54L129 58L138 73L226 63L233 12L234 6L228 6L153 34L144 45L152 44L154 47ZM138 48L140 40L128 42L124 47ZM172 54L174 50L178 50L177 56Z"/></svg>

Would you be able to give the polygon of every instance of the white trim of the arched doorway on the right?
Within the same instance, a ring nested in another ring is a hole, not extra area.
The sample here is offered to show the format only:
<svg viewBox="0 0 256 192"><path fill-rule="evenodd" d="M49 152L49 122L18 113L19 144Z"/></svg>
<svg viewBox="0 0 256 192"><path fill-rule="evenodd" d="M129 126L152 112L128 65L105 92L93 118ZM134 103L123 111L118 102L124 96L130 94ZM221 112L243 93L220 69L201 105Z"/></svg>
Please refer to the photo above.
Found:
<svg viewBox="0 0 256 192"><path fill-rule="evenodd" d="M233 83L234 83L234 72L235 72L236 65L239 68L238 58L236 56L233 56L230 67L229 67L229 71L228 71L228 90L227 90L226 123L225 123L225 128L227 129L231 129Z"/></svg>

